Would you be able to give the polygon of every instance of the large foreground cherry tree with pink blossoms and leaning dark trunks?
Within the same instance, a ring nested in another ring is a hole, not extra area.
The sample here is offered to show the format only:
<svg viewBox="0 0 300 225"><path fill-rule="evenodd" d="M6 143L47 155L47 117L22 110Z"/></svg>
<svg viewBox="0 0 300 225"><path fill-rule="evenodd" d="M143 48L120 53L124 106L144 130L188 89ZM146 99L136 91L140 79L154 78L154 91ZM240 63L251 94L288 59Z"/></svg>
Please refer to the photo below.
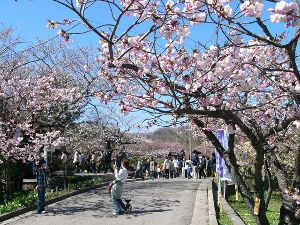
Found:
<svg viewBox="0 0 300 225"><path fill-rule="evenodd" d="M74 33L91 31L100 39L99 76L108 86L97 93L99 99L117 101L125 114L139 108L171 115L175 123L182 117L193 122L224 157L256 223L269 224L262 179L264 159L267 156L276 171L281 191L287 190L271 139L299 120L298 3L53 1L72 10L77 18L49 21L50 28L78 23L82 30L61 28L59 34L69 40ZM111 15L100 24L88 13L97 4ZM214 41L199 38L194 48L187 47L197 29L213 30ZM206 117L228 125L227 151L214 135L213 126L205 123ZM234 127L255 150L254 194L236 163ZM297 224L295 202L282 197L280 224ZM259 213L254 213L255 198L260 199L256 205Z"/></svg>

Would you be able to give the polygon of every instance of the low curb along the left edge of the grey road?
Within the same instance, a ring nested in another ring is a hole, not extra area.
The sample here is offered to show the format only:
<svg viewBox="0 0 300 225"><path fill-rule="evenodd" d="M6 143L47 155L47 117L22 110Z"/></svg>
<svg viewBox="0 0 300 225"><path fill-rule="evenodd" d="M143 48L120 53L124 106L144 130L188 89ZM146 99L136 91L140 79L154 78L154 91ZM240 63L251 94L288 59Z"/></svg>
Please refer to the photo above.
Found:
<svg viewBox="0 0 300 225"><path fill-rule="evenodd" d="M127 180L126 182L134 182L134 181L140 181L140 180L142 180L142 179L138 178L138 179ZM66 199L66 198L69 198L69 197L72 197L72 196L75 196L75 195L78 195L78 194L81 194L81 193L84 193L84 192L87 192L87 191L91 191L91 190L94 190L96 188L107 186L108 184L109 184L109 182L104 182L102 184L97 184L97 185L93 185L91 187L82 188L82 189L70 192L68 194L61 195L61 196L49 199L49 200L47 200L45 202L45 205L47 206L47 205L50 205L50 204L62 201L64 199ZM3 221L5 221L5 220L12 219L12 218L14 218L16 216L20 216L20 215L22 215L24 213L28 213L30 211L33 211L36 208L37 208L36 205L30 205L30 206L26 206L26 207L21 208L21 209L17 209L17 210L15 210L13 212L9 212L9 213L5 213L3 215L0 215L0 223L3 222Z"/></svg>

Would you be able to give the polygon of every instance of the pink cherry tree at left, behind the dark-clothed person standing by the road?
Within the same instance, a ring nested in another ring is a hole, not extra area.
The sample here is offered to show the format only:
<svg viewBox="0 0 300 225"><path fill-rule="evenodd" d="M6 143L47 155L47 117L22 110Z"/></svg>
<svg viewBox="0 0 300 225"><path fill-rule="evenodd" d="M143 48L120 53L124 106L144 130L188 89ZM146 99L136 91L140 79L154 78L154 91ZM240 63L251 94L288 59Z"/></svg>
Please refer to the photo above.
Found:
<svg viewBox="0 0 300 225"><path fill-rule="evenodd" d="M51 45L23 47L12 29L0 32L0 158L7 198L13 190L10 160L38 155L42 148L61 142L61 132L78 119L93 96L92 66L74 72L75 62L88 65L89 60L83 61L88 55L77 49L71 58L70 50ZM94 57L89 59L94 62Z"/></svg>

